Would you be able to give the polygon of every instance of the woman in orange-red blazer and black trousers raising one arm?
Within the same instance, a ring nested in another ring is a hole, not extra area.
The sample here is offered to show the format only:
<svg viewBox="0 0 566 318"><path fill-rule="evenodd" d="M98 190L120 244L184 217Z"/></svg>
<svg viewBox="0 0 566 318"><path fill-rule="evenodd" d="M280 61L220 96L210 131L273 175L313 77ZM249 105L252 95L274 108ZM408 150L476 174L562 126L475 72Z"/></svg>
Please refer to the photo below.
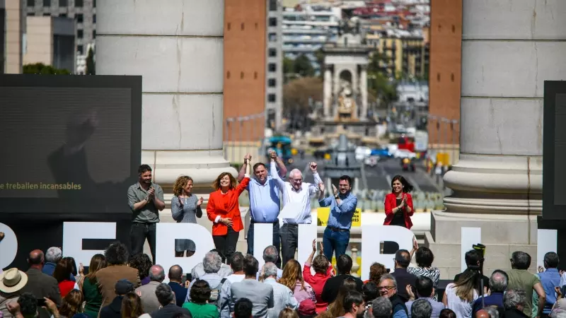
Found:
<svg viewBox="0 0 566 318"><path fill-rule="evenodd" d="M229 172L222 172L212 184L216 191L208 199L207 215L212 220L212 240L222 261L227 259L228 264L236 252L239 232L243 230L238 198L249 182L250 165L246 166L246 175L237 186L236 179Z"/></svg>

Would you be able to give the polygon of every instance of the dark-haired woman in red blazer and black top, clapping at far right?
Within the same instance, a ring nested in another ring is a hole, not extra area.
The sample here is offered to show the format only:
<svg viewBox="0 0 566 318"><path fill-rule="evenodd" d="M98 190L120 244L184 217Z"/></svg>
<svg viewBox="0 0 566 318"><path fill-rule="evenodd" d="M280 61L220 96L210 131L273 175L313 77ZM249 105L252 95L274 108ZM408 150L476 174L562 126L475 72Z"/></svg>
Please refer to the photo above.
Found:
<svg viewBox="0 0 566 318"><path fill-rule="evenodd" d="M415 211L412 208L412 185L401 175L391 180L392 191L385 196L385 222L383 225L398 225L403 228L412 228L411 216Z"/></svg>

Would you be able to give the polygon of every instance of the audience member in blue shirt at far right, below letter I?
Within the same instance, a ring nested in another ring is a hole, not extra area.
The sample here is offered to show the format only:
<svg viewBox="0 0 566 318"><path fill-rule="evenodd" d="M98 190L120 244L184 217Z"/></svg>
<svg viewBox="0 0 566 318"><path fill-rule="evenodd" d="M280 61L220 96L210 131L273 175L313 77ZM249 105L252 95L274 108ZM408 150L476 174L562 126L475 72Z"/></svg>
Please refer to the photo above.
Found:
<svg viewBox="0 0 566 318"><path fill-rule="evenodd" d="M543 266L538 266L538 279L541 280L544 292L546 294L546 302L543 309L543 315L548 316L553 310L553 305L556 302L555 288L562 287L560 285L560 272L558 271L558 264L560 258L555 252L548 252L544 254ZM533 304L538 303L538 294L533 294ZM533 312L536 314L536 312Z"/></svg>

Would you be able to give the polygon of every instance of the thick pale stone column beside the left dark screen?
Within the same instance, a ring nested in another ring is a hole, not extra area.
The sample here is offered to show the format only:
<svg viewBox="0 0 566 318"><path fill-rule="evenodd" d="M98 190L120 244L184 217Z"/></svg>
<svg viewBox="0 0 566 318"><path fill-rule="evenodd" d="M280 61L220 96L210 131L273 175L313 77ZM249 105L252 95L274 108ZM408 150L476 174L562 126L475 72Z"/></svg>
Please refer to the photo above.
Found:
<svg viewBox="0 0 566 318"><path fill-rule="evenodd" d="M99 0L96 11L97 74L143 76L141 162L155 182L171 194L189 175L200 195L236 175L222 151L224 1Z"/></svg>

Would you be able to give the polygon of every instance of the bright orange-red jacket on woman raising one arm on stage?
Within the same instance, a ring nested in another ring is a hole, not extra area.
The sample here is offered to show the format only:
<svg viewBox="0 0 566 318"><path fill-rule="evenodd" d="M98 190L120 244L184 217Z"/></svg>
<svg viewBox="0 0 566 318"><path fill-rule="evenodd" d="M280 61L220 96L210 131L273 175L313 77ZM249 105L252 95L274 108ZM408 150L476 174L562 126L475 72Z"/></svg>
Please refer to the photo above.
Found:
<svg viewBox="0 0 566 318"><path fill-rule="evenodd" d="M228 226L224 225L224 223L214 223L217 216L231 218L234 231L240 232L243 230L238 198L249 182L250 178L245 177L236 188L229 189L226 194L222 194L220 189L210 194L207 204L207 216L209 220L212 220L212 235L226 235L228 233Z"/></svg>

